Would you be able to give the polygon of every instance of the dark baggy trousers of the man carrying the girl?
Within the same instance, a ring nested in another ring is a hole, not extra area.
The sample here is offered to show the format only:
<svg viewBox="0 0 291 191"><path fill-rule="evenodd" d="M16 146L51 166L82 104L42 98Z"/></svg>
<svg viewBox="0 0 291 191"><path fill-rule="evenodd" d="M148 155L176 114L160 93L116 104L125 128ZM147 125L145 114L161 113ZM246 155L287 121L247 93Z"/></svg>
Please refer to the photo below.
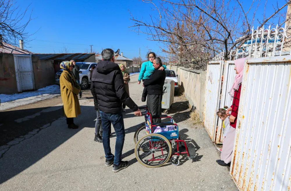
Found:
<svg viewBox="0 0 291 191"><path fill-rule="evenodd" d="M147 106L151 115L162 115L162 95L148 94ZM161 119L152 119L152 123L161 123Z"/></svg>

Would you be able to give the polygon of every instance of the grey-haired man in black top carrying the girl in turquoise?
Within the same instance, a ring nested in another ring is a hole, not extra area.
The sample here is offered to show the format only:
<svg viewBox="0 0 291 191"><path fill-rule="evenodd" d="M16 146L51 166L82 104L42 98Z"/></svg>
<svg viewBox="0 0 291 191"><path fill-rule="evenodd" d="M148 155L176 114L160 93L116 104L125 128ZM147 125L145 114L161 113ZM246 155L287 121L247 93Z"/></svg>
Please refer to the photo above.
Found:
<svg viewBox="0 0 291 191"><path fill-rule="evenodd" d="M152 65L155 70L150 75L150 78L143 82L144 87L148 87L148 101L147 106L149 112L152 115L161 115L162 114L162 97L163 97L163 87L166 79L165 70L159 70L162 66L162 60L159 57L156 57ZM152 119L153 123L161 123L161 119Z"/></svg>

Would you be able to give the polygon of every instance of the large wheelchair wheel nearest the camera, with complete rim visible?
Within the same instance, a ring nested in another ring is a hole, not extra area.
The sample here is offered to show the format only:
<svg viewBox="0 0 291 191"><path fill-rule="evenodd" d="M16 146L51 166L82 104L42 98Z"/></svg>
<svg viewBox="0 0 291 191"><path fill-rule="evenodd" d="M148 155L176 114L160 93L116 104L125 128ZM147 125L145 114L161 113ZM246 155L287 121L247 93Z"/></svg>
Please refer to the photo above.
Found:
<svg viewBox="0 0 291 191"><path fill-rule="evenodd" d="M172 147L163 135L152 133L141 138L135 145L135 157L145 167L159 167L168 162Z"/></svg>

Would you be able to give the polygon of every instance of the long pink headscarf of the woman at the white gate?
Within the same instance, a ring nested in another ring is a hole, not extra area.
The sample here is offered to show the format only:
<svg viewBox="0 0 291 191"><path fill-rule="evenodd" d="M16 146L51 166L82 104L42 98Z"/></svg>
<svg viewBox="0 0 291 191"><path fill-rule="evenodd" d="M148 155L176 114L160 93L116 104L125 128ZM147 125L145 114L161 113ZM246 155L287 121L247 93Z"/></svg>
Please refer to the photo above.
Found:
<svg viewBox="0 0 291 191"><path fill-rule="evenodd" d="M233 85L231 86L231 89L229 90L230 91L229 94L231 97L234 96L235 90L238 90L239 84L242 83L242 77L244 75L244 63L246 59L247 58L239 58L237 60L234 60L235 68L238 74L235 76L235 81L233 82Z"/></svg>

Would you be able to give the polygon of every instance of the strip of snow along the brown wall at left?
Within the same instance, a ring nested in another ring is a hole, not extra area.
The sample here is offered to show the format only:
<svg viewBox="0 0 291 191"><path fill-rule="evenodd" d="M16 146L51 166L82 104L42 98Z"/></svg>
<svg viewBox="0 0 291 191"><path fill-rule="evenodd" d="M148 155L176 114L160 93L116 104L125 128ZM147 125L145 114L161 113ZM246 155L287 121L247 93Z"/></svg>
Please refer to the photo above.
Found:
<svg viewBox="0 0 291 191"><path fill-rule="evenodd" d="M43 94L60 94L60 93L61 93L60 86L50 85L45 88L38 89L36 91L22 92L19 94L11 94L11 95L0 94L1 106L2 106L2 103L8 102L8 101L14 101L17 99L34 97L34 96L39 96Z"/></svg>

